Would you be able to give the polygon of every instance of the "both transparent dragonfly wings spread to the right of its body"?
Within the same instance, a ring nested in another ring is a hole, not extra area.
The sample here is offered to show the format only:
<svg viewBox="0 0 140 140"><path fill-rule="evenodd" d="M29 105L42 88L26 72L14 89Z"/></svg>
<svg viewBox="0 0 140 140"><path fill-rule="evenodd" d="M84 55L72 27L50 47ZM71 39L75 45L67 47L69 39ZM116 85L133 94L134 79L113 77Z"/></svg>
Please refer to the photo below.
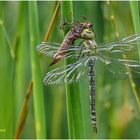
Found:
<svg viewBox="0 0 140 140"><path fill-rule="evenodd" d="M116 79L128 77L129 72L134 73L134 77L140 77L138 45L140 45L139 34L117 42L101 44L97 49L97 61L101 61Z"/></svg>

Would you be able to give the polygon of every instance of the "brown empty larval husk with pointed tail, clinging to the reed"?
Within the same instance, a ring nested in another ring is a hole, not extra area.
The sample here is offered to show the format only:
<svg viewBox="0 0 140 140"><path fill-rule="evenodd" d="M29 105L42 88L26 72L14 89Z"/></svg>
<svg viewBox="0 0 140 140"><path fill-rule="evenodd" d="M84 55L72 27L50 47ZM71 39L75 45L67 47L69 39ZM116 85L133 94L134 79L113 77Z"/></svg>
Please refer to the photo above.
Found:
<svg viewBox="0 0 140 140"><path fill-rule="evenodd" d="M92 24L89 22L83 22L83 23L75 22L74 23L74 26L66 34L60 48L54 54L53 61L50 65L57 63L60 59L64 57L64 55L67 53L70 45L74 42L74 40L78 38L84 38L84 36L82 36L83 29L90 29L92 31Z"/></svg>

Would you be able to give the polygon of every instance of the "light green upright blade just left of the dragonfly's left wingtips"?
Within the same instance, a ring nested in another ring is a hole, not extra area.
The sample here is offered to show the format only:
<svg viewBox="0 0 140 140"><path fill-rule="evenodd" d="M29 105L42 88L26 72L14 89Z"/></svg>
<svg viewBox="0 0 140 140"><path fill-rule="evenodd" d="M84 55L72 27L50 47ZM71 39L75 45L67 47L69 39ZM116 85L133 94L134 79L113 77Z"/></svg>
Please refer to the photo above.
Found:
<svg viewBox="0 0 140 140"><path fill-rule="evenodd" d="M38 139L41 139L41 138L46 138L46 127L45 127L46 123L45 123L41 71L40 71L39 59L35 48L39 42L37 2L29 2L28 8L29 8L29 29L30 29L35 127L36 127L36 137Z"/></svg>

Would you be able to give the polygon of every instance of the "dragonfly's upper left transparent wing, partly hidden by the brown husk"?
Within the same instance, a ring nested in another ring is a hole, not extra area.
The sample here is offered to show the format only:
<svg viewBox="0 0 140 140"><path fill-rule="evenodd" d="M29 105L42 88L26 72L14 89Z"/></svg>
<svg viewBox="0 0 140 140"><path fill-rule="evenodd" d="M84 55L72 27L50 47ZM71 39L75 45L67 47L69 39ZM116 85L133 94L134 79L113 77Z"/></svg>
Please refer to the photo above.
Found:
<svg viewBox="0 0 140 140"><path fill-rule="evenodd" d="M42 42L36 47L36 49L40 54L53 57L53 55L57 52L60 46L61 44L59 43ZM68 50L62 50L62 51L67 52L64 55L63 59L68 59L68 58L79 57L79 53L82 51L82 49L79 46L70 46Z"/></svg>

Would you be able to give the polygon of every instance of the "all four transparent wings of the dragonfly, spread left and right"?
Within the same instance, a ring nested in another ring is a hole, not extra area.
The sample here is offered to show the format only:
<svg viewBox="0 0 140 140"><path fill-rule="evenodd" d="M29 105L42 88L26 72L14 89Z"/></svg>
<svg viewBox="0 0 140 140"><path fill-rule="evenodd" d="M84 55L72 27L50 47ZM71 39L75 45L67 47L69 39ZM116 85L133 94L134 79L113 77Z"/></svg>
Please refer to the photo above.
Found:
<svg viewBox="0 0 140 140"><path fill-rule="evenodd" d="M115 79L127 78L131 73L134 77L140 77L140 61L137 48L140 47L140 34L134 34L111 43L97 45L95 56L84 56L84 49L80 46L70 46L63 60L71 60L72 63L56 68L45 75L44 84L62 85L78 82L87 76L89 60L103 64L111 77ZM41 54L52 57L60 44L42 42L37 46ZM89 50L90 51L90 50Z"/></svg>

